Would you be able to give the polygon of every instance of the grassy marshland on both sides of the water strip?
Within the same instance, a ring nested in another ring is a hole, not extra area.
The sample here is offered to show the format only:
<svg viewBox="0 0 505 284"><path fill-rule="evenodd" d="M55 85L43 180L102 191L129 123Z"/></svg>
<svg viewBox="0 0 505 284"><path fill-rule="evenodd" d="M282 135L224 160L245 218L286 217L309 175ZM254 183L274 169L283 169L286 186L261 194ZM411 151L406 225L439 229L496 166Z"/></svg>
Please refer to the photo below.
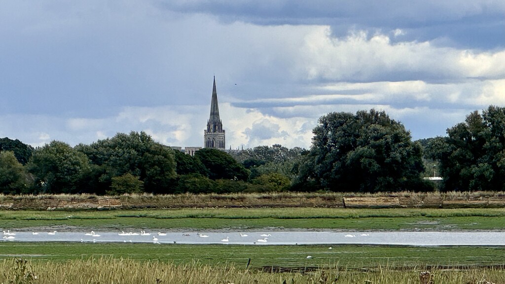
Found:
<svg viewBox="0 0 505 284"><path fill-rule="evenodd" d="M447 231L503 230L503 224L501 208L0 211L0 229L11 230ZM6 271L0 283L419 283L428 270L434 283L503 283L504 252L503 247L0 242L0 270Z"/></svg>

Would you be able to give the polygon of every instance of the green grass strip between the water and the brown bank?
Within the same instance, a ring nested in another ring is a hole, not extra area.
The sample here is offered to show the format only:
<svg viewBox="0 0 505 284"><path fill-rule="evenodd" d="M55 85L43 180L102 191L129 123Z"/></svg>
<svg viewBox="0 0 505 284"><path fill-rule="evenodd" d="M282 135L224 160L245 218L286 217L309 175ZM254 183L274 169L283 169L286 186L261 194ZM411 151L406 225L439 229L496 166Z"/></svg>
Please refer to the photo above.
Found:
<svg viewBox="0 0 505 284"><path fill-rule="evenodd" d="M69 217L71 216L71 217ZM500 230L505 209L170 209L0 211L2 229L78 226L110 229Z"/></svg>

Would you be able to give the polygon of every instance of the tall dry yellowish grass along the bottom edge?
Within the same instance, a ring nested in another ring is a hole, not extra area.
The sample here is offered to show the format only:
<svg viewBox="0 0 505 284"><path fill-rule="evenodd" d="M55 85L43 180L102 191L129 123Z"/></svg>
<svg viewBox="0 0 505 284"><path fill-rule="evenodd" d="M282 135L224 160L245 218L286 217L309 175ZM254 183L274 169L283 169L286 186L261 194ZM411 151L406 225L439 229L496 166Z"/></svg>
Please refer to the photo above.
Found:
<svg viewBox="0 0 505 284"><path fill-rule="evenodd" d="M24 268L19 263L24 263ZM27 268L28 267L28 268ZM302 273L268 273L236 267L233 264L204 265L193 261L177 265L159 261L91 258L68 262L34 262L8 259L0 261L1 283L419 283L423 270L411 267L402 271L385 266L363 270L361 267L327 267ZM478 284L483 279L505 281L501 269L432 270L434 283Z"/></svg>

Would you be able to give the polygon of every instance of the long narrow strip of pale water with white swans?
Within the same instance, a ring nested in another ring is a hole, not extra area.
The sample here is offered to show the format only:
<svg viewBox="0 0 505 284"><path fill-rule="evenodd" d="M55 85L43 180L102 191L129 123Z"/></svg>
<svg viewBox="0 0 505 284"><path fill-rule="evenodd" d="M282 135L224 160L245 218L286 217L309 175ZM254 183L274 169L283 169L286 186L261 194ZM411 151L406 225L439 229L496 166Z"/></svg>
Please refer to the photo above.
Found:
<svg viewBox="0 0 505 284"><path fill-rule="evenodd" d="M15 231L14 231L15 232ZM505 246L505 232L328 232L328 231L256 231L241 232L147 232L149 235L119 235L118 232L95 231L99 236L85 235L84 231L15 232L14 239L4 242L119 242L160 244L234 244L234 245L403 245L403 246ZM270 234L262 236L262 234ZM0 232L1 235L1 232ZM5 235L4 236L8 236ZM223 239L228 237L228 242ZM154 238L157 240L154 241ZM260 242L259 240L265 240Z"/></svg>

